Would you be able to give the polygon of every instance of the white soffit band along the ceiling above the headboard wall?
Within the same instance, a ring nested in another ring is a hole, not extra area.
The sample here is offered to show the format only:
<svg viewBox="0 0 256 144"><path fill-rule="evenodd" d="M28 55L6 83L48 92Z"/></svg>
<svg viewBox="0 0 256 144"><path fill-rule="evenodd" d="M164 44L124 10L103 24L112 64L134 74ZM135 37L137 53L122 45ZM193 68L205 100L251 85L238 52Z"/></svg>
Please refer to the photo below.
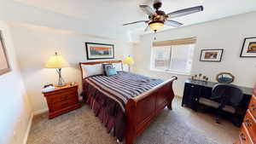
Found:
<svg viewBox="0 0 256 144"><path fill-rule="evenodd" d="M36 2L39 3L39 2ZM64 2L63 2L64 3ZM58 5L59 10L62 9ZM70 5L75 7L76 4ZM58 29L70 30L81 34L90 34L101 37L115 37L121 40L128 40L128 34L122 29L108 25L108 20L98 22L95 20L82 20L67 14L56 13L47 9L40 9L20 0L0 0L0 20L14 21L15 23L26 23L36 26L48 26ZM89 13L88 13L89 14ZM92 14L90 14L92 15ZM87 16L84 15L84 18ZM122 22L119 26L122 25Z"/></svg>

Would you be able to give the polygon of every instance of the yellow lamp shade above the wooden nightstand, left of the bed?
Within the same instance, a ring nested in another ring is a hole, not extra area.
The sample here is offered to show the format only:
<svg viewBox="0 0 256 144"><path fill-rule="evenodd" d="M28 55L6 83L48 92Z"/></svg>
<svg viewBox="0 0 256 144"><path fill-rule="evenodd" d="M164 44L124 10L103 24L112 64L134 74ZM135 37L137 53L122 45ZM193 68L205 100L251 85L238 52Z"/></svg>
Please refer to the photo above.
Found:
<svg viewBox="0 0 256 144"><path fill-rule="evenodd" d="M46 68L62 68L67 66L69 66L67 60L57 53L55 53L55 55L51 55L48 62L45 64Z"/></svg>

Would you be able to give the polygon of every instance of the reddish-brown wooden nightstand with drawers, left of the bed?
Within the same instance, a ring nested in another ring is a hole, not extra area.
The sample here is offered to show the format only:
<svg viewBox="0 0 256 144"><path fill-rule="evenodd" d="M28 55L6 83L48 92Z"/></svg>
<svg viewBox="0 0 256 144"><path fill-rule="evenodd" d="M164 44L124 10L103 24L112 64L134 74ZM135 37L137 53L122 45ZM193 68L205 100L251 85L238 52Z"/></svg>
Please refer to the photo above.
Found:
<svg viewBox="0 0 256 144"><path fill-rule="evenodd" d="M63 87L55 86L55 90L43 93L49 107L49 119L81 107L78 88L78 84L67 84Z"/></svg>

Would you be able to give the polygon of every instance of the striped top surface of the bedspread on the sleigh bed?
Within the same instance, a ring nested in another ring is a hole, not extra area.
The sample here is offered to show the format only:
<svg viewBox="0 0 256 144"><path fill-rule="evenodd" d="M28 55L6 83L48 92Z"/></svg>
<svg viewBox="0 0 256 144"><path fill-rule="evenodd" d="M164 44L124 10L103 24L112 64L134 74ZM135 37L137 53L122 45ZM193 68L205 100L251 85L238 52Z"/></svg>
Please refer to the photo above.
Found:
<svg viewBox="0 0 256 144"><path fill-rule="evenodd" d="M104 95L117 101L123 111L125 111L125 104L129 99L164 82L161 79L148 78L131 72L118 72L117 75L111 77L93 76L85 80Z"/></svg>

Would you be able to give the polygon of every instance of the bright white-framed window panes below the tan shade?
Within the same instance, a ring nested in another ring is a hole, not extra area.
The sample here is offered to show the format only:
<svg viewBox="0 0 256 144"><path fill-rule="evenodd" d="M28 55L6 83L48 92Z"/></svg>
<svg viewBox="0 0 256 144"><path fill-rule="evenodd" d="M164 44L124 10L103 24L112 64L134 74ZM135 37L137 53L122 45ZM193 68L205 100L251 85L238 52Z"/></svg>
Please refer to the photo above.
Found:
<svg viewBox="0 0 256 144"><path fill-rule="evenodd" d="M151 69L190 74L195 43L154 46Z"/></svg>

